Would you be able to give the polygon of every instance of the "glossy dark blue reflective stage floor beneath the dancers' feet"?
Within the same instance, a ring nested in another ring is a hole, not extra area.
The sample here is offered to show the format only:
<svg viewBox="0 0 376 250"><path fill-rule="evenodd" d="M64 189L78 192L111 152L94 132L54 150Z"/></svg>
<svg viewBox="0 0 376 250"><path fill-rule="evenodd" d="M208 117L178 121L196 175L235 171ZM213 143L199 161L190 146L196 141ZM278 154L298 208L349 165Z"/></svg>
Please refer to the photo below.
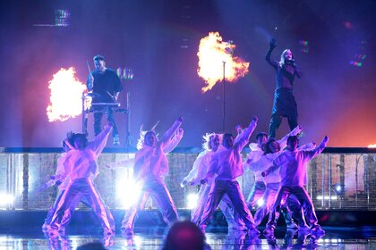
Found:
<svg viewBox="0 0 376 250"><path fill-rule="evenodd" d="M280 227L275 237L248 237L224 227L208 228L211 249L376 249L376 228L323 227L326 234L315 238ZM262 228L261 228L262 230ZM68 227L65 235L47 237L40 227L10 228L0 231L0 249L76 249L90 242L101 242L107 249L160 249L167 228L136 228L133 237L116 231L103 237L98 226Z"/></svg>

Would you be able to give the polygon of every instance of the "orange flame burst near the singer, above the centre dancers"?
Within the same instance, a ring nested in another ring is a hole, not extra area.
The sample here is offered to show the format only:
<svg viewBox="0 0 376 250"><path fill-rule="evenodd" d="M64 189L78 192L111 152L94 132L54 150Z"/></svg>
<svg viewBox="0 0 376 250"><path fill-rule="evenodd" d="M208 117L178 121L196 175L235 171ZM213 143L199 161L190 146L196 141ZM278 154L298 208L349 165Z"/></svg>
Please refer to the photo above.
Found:
<svg viewBox="0 0 376 250"><path fill-rule="evenodd" d="M229 82L244 77L248 73L250 63L233 56L235 45L231 41L223 42L218 32L209 32L208 37L201 38L199 52L199 68L197 73L205 80L206 86L201 88L205 93L223 79L223 62L225 63L225 79Z"/></svg>

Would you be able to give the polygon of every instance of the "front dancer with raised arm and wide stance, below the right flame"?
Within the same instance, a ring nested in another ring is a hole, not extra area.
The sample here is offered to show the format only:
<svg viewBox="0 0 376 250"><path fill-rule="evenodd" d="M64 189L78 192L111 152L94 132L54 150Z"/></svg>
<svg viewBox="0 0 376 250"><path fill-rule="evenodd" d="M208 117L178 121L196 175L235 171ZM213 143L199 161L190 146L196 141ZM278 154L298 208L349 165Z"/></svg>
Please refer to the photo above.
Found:
<svg viewBox="0 0 376 250"><path fill-rule="evenodd" d="M252 214L245 204L239 183L236 178L244 173L241 152L257 126L257 118L253 117L252 122L247 129L239 135L234 144L234 137L231 134L225 134L223 137L224 148L214 154L210 160L209 171L202 183L207 183L209 179L214 179L209 191L208 202L205 205L204 212L201 217L200 228L204 232L206 226L216 211L222 197L227 194L235 211L238 212L240 218L244 221L245 226L249 230L249 234L259 233L255 228Z"/></svg>

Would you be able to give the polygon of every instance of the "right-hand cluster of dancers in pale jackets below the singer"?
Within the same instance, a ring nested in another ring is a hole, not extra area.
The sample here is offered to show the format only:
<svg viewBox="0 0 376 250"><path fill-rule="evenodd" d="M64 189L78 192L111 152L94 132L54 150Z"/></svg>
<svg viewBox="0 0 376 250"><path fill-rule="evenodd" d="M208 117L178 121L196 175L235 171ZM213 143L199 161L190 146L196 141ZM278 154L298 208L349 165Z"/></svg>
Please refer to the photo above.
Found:
<svg viewBox="0 0 376 250"><path fill-rule="evenodd" d="M250 145L251 152L245 162L242 162L240 152L248 143L256 121L257 119L253 119L250 126L234 140L229 134L210 134L209 137L204 137L208 139L204 144L207 149L199 154L192 171L182 181L182 185L194 186L201 183L199 203L192 210L191 220L205 231L219 204L229 229L257 233L255 228L269 214L264 234L272 234L279 213L283 212L287 228L325 233L320 229L312 200L303 186L306 184L306 163L322 152L328 137L324 137L319 146L309 143L297 147L297 135L302 131L300 126L279 141L268 138L266 133L261 132L256 137L258 144ZM222 143L217 146L220 138ZM285 147L286 150L281 152L281 148ZM246 170L255 175L247 203L236 180ZM259 201L258 205L256 201ZM254 207L257 210L253 220L250 209Z"/></svg>

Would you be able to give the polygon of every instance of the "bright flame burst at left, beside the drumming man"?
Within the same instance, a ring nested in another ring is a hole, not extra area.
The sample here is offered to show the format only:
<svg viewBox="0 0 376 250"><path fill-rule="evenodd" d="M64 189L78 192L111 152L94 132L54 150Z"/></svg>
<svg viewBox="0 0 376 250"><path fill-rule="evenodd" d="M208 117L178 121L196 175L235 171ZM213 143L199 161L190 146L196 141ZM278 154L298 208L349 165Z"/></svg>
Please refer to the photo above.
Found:
<svg viewBox="0 0 376 250"><path fill-rule="evenodd" d="M47 106L48 121L67 121L81 114L82 93L86 85L75 76L73 67L68 70L60 69L54 79L48 81L51 91L50 103Z"/></svg>

